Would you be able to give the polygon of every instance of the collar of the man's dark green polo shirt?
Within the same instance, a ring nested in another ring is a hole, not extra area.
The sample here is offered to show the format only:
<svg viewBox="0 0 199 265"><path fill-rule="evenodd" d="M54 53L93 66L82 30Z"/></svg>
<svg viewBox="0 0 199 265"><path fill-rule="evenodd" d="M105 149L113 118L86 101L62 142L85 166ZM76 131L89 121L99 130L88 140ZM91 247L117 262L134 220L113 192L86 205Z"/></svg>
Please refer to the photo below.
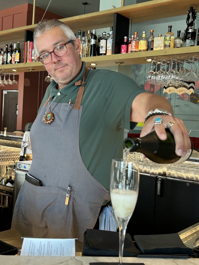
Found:
<svg viewBox="0 0 199 265"><path fill-rule="evenodd" d="M62 91L61 93L63 93L64 95L70 95L78 86L75 86L75 82L79 81L79 80L82 80L83 79L83 75L84 75L84 70L85 70L85 67L86 67L86 63L83 62L83 67L82 67L82 70L80 72L80 74L71 82L69 83L68 85L64 86L62 88ZM52 88L52 91L51 91L51 98L55 95L57 95L57 92L58 92L58 85L56 85L57 83L55 82L55 80L51 81L50 83L50 89Z"/></svg>

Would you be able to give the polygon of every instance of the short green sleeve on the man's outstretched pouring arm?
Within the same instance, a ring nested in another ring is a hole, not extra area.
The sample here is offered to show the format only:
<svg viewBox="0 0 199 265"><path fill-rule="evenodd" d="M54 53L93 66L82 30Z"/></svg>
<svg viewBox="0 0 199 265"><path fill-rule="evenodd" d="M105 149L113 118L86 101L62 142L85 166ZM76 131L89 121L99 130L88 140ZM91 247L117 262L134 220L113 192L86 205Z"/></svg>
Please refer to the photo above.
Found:
<svg viewBox="0 0 199 265"><path fill-rule="evenodd" d="M99 107L107 126L132 130L136 123L130 122L131 105L135 97L143 92L146 91L128 76L107 71L99 93Z"/></svg>

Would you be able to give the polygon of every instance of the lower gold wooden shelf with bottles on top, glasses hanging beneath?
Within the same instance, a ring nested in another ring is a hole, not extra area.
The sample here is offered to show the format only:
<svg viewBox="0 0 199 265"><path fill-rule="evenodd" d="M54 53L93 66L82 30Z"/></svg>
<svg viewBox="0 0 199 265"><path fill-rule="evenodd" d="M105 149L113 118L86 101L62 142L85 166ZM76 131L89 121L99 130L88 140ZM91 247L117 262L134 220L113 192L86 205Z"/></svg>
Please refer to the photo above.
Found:
<svg viewBox="0 0 199 265"><path fill-rule="evenodd" d="M173 48L167 50L158 50L158 51L142 51L142 52L131 52L126 54L113 54L105 56L95 56L95 57L86 57L82 58L82 61L86 62L86 67L107 67L107 66L116 66L116 62L123 62L122 65L129 64L146 64L148 63L146 59L161 59L166 56L166 58L182 57L186 54L188 56L197 55L199 52L199 46L193 47L182 47L182 48ZM90 65L91 63L96 64L96 66ZM12 69L17 70L16 73L20 72L36 72L36 71L45 71L45 67L41 62L33 63L20 63L20 64L7 64L0 65L1 73L13 72Z"/></svg>

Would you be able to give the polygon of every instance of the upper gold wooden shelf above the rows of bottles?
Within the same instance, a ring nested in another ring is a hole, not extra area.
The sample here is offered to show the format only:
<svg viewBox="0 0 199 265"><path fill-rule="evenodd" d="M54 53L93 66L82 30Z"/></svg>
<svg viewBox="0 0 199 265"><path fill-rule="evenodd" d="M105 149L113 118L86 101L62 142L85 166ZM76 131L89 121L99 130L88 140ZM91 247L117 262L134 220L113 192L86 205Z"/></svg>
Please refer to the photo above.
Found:
<svg viewBox="0 0 199 265"><path fill-rule="evenodd" d="M85 15L67 17L60 20L67 24L71 29L75 29L80 25L81 27L87 27L113 22L114 13L119 13L125 17L128 17L129 19L160 14L165 14L164 17L169 17L171 12L177 11L182 11L182 14L187 14L187 10L189 9L190 5L194 8L198 8L199 1L192 0L189 2L187 0L153 0ZM0 31L0 41L23 38L25 30L33 31L35 27L36 24Z"/></svg>

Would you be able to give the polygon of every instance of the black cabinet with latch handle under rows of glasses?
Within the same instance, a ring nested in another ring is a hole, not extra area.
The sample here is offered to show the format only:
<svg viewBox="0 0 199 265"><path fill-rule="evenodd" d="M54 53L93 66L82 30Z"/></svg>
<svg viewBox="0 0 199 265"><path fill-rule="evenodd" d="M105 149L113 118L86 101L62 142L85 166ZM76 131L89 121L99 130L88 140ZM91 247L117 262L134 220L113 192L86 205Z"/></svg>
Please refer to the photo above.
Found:
<svg viewBox="0 0 199 265"><path fill-rule="evenodd" d="M178 233L198 222L198 182L140 174L138 200L127 226L132 238Z"/></svg>

